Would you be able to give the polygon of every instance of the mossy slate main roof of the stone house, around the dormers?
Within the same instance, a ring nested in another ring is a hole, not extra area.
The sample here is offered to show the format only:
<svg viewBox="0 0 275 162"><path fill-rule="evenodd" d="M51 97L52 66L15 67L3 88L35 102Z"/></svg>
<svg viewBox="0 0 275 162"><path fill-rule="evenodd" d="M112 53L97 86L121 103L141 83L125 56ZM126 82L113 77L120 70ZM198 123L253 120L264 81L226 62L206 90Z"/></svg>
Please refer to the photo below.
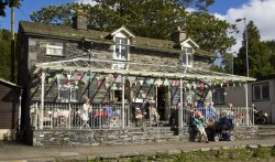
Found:
<svg viewBox="0 0 275 162"><path fill-rule="evenodd" d="M52 25L38 22L28 22L20 21L20 29L22 32L26 34L34 35L51 35L58 37L69 37L69 39L90 39L96 42L109 43L113 44L111 39L107 39L111 32L105 31L96 31L96 30L76 30L72 26L63 26L63 25ZM163 51L169 53L180 53L179 48L175 48L177 44L169 40L158 40L158 39L150 39L135 36L132 40L131 46L154 50L154 51ZM213 53L196 48L196 55L215 57Z"/></svg>

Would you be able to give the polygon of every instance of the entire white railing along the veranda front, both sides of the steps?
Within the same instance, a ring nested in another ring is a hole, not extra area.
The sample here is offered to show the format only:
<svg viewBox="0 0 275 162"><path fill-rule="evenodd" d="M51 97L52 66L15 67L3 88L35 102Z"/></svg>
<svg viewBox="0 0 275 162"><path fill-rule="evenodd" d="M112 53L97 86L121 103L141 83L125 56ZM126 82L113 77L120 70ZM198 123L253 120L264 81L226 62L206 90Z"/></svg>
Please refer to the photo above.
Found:
<svg viewBox="0 0 275 162"><path fill-rule="evenodd" d="M195 111L184 107L183 117L179 117L177 110L172 111L170 126L178 126L178 119L182 119L183 125L191 125ZM254 125L252 108L233 107L229 110L228 107L216 107L216 112L211 115L209 115L208 109L201 109L200 111L206 120L211 118L211 121L218 121L221 117L228 116L232 119L234 126ZM123 121L124 127L158 127L158 121L155 121L151 116L150 119L144 117L136 119L136 114L132 115L129 105L124 106L123 115L121 104L94 104L87 112L82 111L81 104L44 104L43 111L40 104L34 104L31 106L30 116L32 127L35 129L116 129L123 128ZM122 117L124 117L124 120L122 120Z"/></svg>

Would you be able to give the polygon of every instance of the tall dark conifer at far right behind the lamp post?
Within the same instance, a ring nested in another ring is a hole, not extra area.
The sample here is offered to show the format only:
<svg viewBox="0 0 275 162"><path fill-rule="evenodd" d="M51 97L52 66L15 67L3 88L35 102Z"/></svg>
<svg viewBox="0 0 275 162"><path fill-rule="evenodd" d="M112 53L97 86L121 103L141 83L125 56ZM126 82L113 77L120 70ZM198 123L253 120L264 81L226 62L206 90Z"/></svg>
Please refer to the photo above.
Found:
<svg viewBox="0 0 275 162"><path fill-rule="evenodd" d="M270 62L271 53L268 46L261 42L261 35L253 21L246 25L248 30L248 55L249 55L249 71L251 77L263 77L273 73L273 67ZM242 46L239 51L238 58L234 62L235 74L246 76L246 46L245 32L243 33Z"/></svg>

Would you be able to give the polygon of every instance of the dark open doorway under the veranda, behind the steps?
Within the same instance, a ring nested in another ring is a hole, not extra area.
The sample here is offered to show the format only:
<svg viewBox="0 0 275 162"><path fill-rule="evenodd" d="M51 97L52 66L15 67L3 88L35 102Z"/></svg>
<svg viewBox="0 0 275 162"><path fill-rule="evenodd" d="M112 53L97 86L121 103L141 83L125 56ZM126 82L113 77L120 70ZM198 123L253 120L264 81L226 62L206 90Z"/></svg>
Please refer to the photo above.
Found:
<svg viewBox="0 0 275 162"><path fill-rule="evenodd" d="M157 112L160 115L160 120L168 119L167 97L168 97L168 87L164 86L157 87Z"/></svg>

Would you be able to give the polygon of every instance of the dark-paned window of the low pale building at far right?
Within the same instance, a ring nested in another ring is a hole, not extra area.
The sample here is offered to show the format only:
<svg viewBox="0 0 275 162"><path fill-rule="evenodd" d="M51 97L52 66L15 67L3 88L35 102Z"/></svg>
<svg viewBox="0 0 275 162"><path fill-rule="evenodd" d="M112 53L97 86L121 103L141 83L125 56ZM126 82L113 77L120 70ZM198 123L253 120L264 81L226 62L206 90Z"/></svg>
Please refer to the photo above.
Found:
<svg viewBox="0 0 275 162"><path fill-rule="evenodd" d="M268 100L270 99L270 85L268 83L252 85L253 100Z"/></svg>

